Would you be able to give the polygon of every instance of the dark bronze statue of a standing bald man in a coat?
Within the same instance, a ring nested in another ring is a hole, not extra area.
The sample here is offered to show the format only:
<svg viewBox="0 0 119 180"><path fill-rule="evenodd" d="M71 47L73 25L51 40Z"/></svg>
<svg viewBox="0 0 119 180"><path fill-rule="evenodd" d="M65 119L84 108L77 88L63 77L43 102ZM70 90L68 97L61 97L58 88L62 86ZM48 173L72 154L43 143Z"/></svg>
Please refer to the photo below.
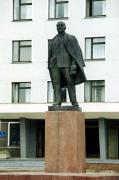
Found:
<svg viewBox="0 0 119 180"><path fill-rule="evenodd" d="M48 69L54 89L54 104L62 103L62 88L68 88L70 102L78 106L75 85L86 81L82 51L75 36L65 33L64 22L57 23L58 34L50 40Z"/></svg>

